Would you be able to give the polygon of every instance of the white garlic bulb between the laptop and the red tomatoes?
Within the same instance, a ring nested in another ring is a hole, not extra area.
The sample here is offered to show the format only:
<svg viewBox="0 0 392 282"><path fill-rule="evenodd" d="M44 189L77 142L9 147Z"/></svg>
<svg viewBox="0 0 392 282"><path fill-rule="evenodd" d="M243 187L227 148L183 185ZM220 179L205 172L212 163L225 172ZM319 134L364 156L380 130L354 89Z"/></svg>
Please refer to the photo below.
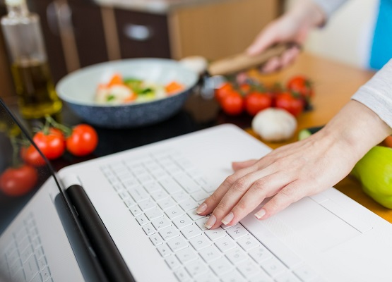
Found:
<svg viewBox="0 0 392 282"><path fill-rule="evenodd" d="M251 127L263 140L280 142L294 135L297 120L283 109L268 108L256 114Z"/></svg>

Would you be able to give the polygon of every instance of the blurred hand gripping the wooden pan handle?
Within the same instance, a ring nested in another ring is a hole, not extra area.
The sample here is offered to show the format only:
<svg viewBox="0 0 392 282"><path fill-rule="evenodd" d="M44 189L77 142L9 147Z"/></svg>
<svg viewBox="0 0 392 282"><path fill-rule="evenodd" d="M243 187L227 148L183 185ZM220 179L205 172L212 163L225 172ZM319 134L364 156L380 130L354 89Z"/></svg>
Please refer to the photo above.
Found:
<svg viewBox="0 0 392 282"><path fill-rule="evenodd" d="M307 38L311 28L321 25L325 20L323 12L316 4L309 2L300 3L292 10L285 13L280 18L273 20L256 37L251 46L247 49L247 54L254 56L271 47L276 43L294 42L293 47L287 49L279 57L270 59L261 71L270 73L280 68L288 66L297 58L300 46Z"/></svg>

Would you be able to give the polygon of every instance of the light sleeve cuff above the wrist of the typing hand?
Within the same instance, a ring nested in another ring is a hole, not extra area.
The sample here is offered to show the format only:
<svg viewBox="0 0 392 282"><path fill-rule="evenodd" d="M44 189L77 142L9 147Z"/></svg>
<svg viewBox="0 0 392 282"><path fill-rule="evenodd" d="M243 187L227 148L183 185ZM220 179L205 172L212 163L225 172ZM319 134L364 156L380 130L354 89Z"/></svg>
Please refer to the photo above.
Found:
<svg viewBox="0 0 392 282"><path fill-rule="evenodd" d="M392 59L352 95L392 128Z"/></svg>

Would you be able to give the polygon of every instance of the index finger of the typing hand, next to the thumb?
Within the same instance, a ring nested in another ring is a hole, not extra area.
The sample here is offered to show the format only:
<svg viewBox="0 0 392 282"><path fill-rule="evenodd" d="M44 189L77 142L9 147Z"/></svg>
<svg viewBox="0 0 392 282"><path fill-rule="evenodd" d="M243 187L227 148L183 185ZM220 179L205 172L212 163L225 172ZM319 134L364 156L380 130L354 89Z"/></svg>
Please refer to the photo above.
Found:
<svg viewBox="0 0 392 282"><path fill-rule="evenodd" d="M213 194L210 195L210 197L208 197L206 200L204 200L204 202L201 203L200 206L198 206L198 208L196 209L196 213L200 215L206 215L213 212L215 207L222 200L222 198L232 187L232 185L234 185L237 179L246 176L248 173L256 171L256 169L256 166L249 166L247 168L242 168L239 171L236 171L231 176L228 176L225 181L223 181L222 184L220 184L219 187L213 192Z"/></svg>

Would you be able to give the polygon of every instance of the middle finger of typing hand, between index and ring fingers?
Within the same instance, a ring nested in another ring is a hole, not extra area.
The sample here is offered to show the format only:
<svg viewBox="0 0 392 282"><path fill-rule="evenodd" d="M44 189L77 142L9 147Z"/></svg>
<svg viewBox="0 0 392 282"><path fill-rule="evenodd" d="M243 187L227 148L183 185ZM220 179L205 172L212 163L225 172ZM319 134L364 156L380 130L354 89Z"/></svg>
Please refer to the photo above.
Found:
<svg viewBox="0 0 392 282"><path fill-rule="evenodd" d="M215 222L213 219L208 219L206 227L215 228L220 226L222 219L230 213L233 207L241 200L245 193L248 192L249 188L254 185L255 181L270 175L270 171L271 169L268 168L262 171L255 171L254 173L248 173L246 176L235 181L212 212L213 216L215 216Z"/></svg>

